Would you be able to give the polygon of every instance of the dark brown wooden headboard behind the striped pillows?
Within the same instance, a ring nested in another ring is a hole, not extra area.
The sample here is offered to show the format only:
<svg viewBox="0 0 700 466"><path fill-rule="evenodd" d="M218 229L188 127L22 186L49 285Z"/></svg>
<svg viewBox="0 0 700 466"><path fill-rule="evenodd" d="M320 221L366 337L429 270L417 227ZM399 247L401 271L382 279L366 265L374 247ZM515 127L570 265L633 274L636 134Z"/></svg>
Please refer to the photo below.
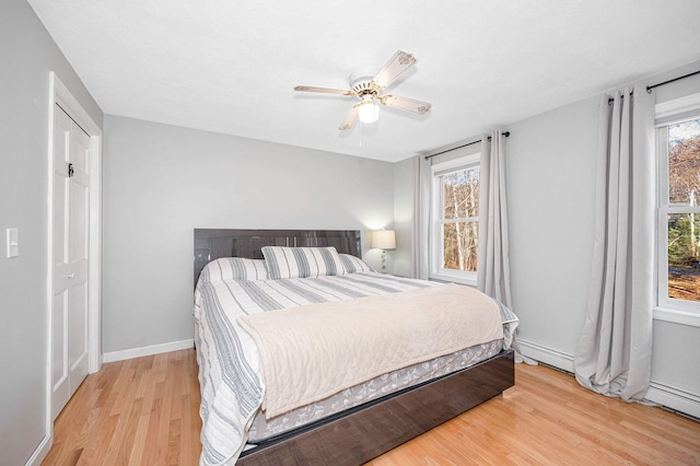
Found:
<svg viewBox="0 0 700 466"><path fill-rule="evenodd" d="M335 246L362 257L358 230L215 230L195 229L195 287L201 269L220 257L261 259L262 246Z"/></svg>

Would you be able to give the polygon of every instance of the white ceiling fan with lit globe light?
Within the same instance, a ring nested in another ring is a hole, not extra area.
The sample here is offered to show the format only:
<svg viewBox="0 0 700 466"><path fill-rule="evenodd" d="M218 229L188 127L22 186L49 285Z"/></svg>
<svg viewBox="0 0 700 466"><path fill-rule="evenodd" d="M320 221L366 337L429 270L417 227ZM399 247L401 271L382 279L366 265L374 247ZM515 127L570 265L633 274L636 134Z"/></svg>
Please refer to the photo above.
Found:
<svg viewBox="0 0 700 466"><path fill-rule="evenodd" d="M298 85L294 91L349 95L359 98L360 102L350 108L350 112L340 124L340 130L350 129L358 118L362 123L376 121L380 116L377 102L388 107L424 115L430 110L431 104L413 98L399 97L398 95L383 94L384 90L412 67L416 61L416 57L411 54L398 50L374 78L366 70L350 74L351 90Z"/></svg>

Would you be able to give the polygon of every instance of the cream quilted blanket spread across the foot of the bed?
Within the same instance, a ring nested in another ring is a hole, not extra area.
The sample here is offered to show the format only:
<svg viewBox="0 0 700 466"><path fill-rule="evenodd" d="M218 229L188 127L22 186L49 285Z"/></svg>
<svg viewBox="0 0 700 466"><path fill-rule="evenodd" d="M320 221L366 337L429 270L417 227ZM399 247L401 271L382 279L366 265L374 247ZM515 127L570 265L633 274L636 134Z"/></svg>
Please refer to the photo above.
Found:
<svg viewBox="0 0 700 466"><path fill-rule="evenodd" d="M497 304L455 284L238 316L272 418L381 374L503 338Z"/></svg>

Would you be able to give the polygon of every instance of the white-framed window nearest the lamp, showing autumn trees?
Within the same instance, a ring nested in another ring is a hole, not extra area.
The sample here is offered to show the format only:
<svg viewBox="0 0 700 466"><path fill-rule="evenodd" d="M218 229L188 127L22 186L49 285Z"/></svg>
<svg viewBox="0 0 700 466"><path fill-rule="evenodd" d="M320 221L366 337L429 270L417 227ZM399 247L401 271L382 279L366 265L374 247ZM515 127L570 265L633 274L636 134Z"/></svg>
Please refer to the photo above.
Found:
<svg viewBox="0 0 700 466"><path fill-rule="evenodd" d="M431 278L476 286L479 154L432 166Z"/></svg>

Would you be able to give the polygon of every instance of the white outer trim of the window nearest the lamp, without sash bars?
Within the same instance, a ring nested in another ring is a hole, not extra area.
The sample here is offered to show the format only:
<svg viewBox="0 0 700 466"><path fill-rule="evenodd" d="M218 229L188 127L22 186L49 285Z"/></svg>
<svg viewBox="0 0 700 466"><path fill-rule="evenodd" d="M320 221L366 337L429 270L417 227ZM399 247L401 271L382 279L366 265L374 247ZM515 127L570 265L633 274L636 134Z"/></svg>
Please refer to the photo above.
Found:
<svg viewBox="0 0 700 466"><path fill-rule="evenodd" d="M431 166L431 206L430 206L430 279L439 281L447 281L459 284L467 284L470 287L477 286L477 272L451 270L442 268L442 223L440 219L435 219L434 215L442 212L443 206L443 193L442 186L436 180L436 173L450 171L452 168L459 168L464 166L479 165L481 160L481 153L476 152L468 155L464 155L450 161L435 163Z"/></svg>

